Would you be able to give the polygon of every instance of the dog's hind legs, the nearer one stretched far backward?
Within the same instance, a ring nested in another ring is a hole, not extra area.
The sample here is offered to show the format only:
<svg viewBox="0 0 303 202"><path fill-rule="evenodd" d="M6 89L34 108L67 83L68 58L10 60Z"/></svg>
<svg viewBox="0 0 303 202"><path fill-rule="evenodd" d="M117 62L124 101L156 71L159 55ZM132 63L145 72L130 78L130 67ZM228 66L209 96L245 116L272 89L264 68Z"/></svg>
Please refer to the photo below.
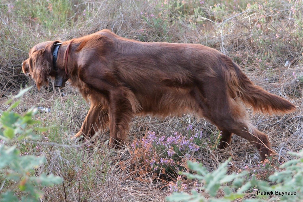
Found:
<svg viewBox="0 0 303 202"><path fill-rule="evenodd" d="M248 121L240 101L231 99L226 88L218 88L218 86L224 86L224 83L222 79L214 78L214 81L201 85L199 92L196 90L192 93L200 108L198 113L214 123L222 132L224 131L220 142L221 148L230 142L231 133L234 133L255 145L261 159L265 160L272 153L267 136Z"/></svg>

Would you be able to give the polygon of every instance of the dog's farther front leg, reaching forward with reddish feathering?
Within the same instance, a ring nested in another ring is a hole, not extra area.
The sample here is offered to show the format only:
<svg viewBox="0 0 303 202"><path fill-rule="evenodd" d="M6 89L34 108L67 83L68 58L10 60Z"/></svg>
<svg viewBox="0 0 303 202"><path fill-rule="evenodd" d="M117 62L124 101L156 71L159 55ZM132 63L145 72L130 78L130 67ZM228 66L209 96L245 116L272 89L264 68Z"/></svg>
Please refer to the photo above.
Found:
<svg viewBox="0 0 303 202"><path fill-rule="evenodd" d="M83 135L85 139L92 138L99 130L104 131L108 122L108 110L103 106L91 104L80 131L74 137Z"/></svg>

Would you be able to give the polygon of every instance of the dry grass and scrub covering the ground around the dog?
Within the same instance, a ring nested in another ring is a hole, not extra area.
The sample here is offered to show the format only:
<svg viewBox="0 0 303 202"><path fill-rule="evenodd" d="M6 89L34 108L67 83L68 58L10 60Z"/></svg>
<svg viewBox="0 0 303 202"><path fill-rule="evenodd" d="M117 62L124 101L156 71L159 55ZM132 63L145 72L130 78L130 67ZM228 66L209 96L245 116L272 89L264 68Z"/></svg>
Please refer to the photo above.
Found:
<svg viewBox="0 0 303 202"><path fill-rule="evenodd" d="M170 1L74 0L71 8L59 11L55 7L51 11L47 8L51 5L41 2L0 3L3 8L0 9L0 109L7 109L5 101L20 87L34 84L21 73L20 65L30 47L41 41L67 40L107 28L131 39L200 43L224 52L256 84L297 106L295 113L283 116L253 114L248 109L251 122L268 134L279 160L290 160L287 151L303 147L303 21L299 15L303 5L300 2L254 4L250 1L252 6L247 7L242 1L227 1L225 6L215 6L216 1L204 4L185 1L179 6ZM9 5L14 5L10 12ZM29 12L35 9L42 14ZM42 16L43 12L48 14L47 18ZM291 61L287 66L286 60ZM18 110L22 113L32 105L51 109L50 113L37 115L42 126L54 126L42 134L43 142L81 146L18 143L22 152L47 157L48 162L38 172L54 173L64 179L62 185L45 190L45 201L164 201L170 194L168 185L175 178L151 172L130 145L133 140L142 139L147 130L154 131L158 137L170 136L193 125L203 130L205 141L193 158L208 170L216 169L231 156L229 172L244 170L245 166L257 170L261 178L271 172L258 168L258 152L238 136L233 136L231 146L225 150L211 149L213 142L208 140L217 133L216 128L191 115L165 119L136 117L131 124L129 144L115 151L107 146L108 132L100 135L95 147L70 140L80 129L88 110L88 104L71 86L60 93L52 85L41 91L34 88L22 98ZM188 190L194 186L194 182L185 180L185 183Z"/></svg>

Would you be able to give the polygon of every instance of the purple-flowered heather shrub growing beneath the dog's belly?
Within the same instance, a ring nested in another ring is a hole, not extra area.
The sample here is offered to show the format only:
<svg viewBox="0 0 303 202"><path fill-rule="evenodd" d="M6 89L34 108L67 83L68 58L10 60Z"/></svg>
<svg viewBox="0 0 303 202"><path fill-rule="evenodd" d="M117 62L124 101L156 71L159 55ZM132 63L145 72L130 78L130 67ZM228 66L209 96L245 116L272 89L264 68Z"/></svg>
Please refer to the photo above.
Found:
<svg viewBox="0 0 303 202"><path fill-rule="evenodd" d="M176 175L178 170L189 171L186 161L194 160L194 153L200 150L203 133L195 131L192 135L192 132L191 125L188 126L186 135L176 132L172 136L163 135L158 138L155 132L148 131L142 140L134 140L132 147L135 153L144 153L141 157L148 163L148 170Z"/></svg>

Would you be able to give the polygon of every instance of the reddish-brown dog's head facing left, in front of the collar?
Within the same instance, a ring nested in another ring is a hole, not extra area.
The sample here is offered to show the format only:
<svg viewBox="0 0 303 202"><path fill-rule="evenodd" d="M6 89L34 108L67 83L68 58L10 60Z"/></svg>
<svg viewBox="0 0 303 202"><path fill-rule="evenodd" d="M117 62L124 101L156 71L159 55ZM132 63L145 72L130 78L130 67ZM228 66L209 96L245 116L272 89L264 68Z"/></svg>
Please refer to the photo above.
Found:
<svg viewBox="0 0 303 202"><path fill-rule="evenodd" d="M47 41L35 45L30 49L29 58L22 62L22 71L28 74L35 80L38 89L44 84L48 85L48 77L55 78L56 81L60 80L60 84L55 86L65 86L66 75L65 69L53 66L53 50L55 43L60 41Z"/></svg>

